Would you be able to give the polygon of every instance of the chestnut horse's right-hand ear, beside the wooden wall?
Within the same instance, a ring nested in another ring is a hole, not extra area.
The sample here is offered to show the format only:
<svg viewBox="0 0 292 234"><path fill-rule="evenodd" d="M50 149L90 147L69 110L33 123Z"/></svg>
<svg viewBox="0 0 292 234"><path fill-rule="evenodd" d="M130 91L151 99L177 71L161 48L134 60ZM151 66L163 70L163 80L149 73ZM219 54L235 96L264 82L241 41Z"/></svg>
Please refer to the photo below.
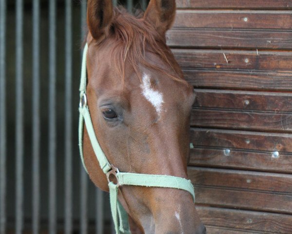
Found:
<svg viewBox="0 0 292 234"><path fill-rule="evenodd" d="M144 19L151 22L164 35L175 18L175 0L150 0Z"/></svg>

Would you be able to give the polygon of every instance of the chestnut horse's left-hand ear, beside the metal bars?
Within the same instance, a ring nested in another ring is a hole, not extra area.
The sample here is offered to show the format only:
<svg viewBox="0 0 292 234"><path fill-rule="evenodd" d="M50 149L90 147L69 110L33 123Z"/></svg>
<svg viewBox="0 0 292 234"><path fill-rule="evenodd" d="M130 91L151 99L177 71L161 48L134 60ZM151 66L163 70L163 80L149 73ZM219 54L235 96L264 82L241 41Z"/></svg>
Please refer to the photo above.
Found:
<svg viewBox="0 0 292 234"><path fill-rule="evenodd" d="M88 0L87 24L94 39L109 32L112 15L111 0Z"/></svg>

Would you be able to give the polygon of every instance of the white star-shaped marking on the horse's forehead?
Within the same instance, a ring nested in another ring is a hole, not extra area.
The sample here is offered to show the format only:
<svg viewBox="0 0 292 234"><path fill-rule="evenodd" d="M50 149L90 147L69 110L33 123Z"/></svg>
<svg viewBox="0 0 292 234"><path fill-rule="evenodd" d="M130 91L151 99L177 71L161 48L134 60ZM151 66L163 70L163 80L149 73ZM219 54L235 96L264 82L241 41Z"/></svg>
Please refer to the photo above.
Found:
<svg viewBox="0 0 292 234"><path fill-rule="evenodd" d="M143 96L154 106L156 112L160 114L163 103L162 93L151 88L150 77L147 74L143 74L142 82Z"/></svg>

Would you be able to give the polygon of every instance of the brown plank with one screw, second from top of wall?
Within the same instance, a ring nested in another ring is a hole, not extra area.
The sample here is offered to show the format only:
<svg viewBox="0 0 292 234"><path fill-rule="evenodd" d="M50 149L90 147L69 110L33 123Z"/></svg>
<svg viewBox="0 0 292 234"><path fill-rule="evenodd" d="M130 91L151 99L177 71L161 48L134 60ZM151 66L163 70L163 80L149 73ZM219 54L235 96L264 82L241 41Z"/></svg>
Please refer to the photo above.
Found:
<svg viewBox="0 0 292 234"><path fill-rule="evenodd" d="M292 29L289 11L177 10L174 27Z"/></svg>

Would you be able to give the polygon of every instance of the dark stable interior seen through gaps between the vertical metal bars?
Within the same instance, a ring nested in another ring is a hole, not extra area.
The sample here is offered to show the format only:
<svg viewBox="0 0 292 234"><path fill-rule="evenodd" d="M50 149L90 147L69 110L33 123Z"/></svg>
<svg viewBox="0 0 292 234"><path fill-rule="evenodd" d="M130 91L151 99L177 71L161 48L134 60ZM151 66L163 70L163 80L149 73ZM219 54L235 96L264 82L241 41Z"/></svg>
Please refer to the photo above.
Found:
<svg viewBox="0 0 292 234"><path fill-rule="evenodd" d="M24 231L31 232L32 219L32 0L24 0L23 12L23 98L24 98ZM40 156L40 229L46 233L48 226L48 85L49 85L49 1L40 0L40 128L41 128L41 156ZM120 4L126 5L126 1ZM133 6L140 8L141 4L134 1ZM64 222L64 123L65 119L65 3L64 0L57 0L56 12L56 201L57 201L57 224L58 232L63 232ZM73 20L73 66L72 66L72 94L73 94L73 223L74 231L79 230L80 218L80 156L78 150L78 104L79 104L79 81L81 65L81 36L82 25L80 16L80 0L73 0L72 8ZM7 228L9 233L15 231L16 212L16 189L15 189L15 96L16 96L16 10L15 1L7 1L6 18L6 116L7 116ZM94 231L95 220L95 186L88 180L88 217L89 230ZM110 224L110 208L107 194L105 196L105 224ZM107 229L109 230L109 229Z"/></svg>

